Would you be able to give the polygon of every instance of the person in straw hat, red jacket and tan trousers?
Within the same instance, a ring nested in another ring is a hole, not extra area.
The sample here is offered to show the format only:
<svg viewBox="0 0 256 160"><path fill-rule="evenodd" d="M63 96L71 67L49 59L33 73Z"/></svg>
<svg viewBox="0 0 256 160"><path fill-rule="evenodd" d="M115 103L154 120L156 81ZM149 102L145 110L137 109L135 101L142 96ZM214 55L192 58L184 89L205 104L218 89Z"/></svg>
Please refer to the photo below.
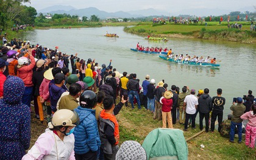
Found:
<svg viewBox="0 0 256 160"><path fill-rule="evenodd" d="M163 97L160 98L160 103L162 104L162 119L163 119L163 128L166 128L166 117L168 120L168 127L172 127L172 117L171 117L171 109L172 109L172 92L165 91Z"/></svg>

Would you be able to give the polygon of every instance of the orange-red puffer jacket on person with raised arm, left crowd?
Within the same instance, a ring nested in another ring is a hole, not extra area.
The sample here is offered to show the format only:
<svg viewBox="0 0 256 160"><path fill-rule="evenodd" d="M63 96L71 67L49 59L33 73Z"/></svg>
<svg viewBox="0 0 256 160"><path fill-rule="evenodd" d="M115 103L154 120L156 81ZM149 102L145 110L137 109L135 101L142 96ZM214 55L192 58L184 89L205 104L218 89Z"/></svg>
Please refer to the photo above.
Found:
<svg viewBox="0 0 256 160"><path fill-rule="evenodd" d="M30 56L29 58L31 61L29 65L18 68L19 77L23 80L25 86L33 86L32 75L35 66L35 58L33 56Z"/></svg>

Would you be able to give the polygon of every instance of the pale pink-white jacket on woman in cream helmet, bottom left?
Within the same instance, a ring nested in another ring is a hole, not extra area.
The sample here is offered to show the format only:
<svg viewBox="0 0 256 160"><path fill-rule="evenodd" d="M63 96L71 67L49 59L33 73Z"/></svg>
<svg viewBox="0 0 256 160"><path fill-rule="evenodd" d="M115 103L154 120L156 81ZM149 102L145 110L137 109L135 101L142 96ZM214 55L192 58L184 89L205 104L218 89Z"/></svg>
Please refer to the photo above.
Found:
<svg viewBox="0 0 256 160"><path fill-rule="evenodd" d="M75 160L74 134L65 136L62 141L57 134L46 129L46 132L38 137L35 145L27 151L27 155L24 155L22 159Z"/></svg>

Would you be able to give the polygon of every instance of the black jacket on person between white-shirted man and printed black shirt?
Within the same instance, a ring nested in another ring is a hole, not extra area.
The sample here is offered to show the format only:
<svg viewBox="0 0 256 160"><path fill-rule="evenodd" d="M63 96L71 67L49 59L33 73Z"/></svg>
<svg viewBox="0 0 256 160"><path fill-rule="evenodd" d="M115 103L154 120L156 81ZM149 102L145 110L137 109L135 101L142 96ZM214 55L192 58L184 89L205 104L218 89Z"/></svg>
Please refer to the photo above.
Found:
<svg viewBox="0 0 256 160"><path fill-rule="evenodd" d="M209 94L202 94L198 99L199 112L210 113L213 108L212 98Z"/></svg>

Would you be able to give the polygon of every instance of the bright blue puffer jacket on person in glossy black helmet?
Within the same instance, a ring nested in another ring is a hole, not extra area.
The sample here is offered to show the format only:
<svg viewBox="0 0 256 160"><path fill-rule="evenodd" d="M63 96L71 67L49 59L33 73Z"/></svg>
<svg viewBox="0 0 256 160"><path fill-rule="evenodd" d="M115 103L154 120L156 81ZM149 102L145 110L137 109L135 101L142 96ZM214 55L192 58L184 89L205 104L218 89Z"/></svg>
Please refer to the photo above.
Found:
<svg viewBox="0 0 256 160"><path fill-rule="evenodd" d="M101 146L95 110L78 106L74 111L79 116L80 123L74 130L75 144L74 151L83 155L88 151L97 151Z"/></svg>

